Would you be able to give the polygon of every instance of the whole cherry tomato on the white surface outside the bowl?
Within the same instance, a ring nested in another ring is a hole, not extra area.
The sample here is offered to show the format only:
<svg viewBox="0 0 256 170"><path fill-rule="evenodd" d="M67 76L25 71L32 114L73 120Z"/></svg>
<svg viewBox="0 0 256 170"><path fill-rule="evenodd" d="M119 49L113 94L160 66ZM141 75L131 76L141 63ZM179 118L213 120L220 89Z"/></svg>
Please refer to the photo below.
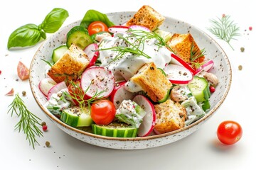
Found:
<svg viewBox="0 0 256 170"><path fill-rule="evenodd" d="M225 120L218 126L217 136L220 142L233 145L242 137L242 127L232 120Z"/></svg>

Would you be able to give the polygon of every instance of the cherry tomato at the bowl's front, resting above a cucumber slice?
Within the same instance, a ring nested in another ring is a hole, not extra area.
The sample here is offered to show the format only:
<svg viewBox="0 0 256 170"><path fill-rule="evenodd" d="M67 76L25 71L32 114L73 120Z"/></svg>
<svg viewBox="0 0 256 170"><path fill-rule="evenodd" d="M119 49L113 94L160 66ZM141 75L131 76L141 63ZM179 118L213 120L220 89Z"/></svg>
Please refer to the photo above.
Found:
<svg viewBox="0 0 256 170"><path fill-rule="evenodd" d="M91 117L97 125L107 125L114 120L116 109L114 103L107 99L92 104Z"/></svg>

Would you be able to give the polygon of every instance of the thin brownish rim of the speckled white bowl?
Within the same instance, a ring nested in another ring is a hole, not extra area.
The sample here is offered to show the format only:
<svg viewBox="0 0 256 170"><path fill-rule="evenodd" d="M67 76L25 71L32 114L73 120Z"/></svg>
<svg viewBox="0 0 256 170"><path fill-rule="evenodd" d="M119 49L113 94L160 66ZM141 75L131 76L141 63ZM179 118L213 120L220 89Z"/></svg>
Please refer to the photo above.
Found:
<svg viewBox="0 0 256 170"><path fill-rule="evenodd" d="M119 13L125 13L125 12L114 12L116 14L119 14ZM107 15L108 14L114 14L114 13L106 13ZM127 11L127 13L135 13L134 11ZM169 16L165 16L166 18L170 18L171 20L174 20L174 21L178 21L176 18L172 18L172 17L169 17ZM78 21L75 21L75 22L78 22ZM186 22L183 22L183 23L186 23ZM191 25L190 23L188 23L189 26L193 26ZM152 139L156 139L156 138L161 138L161 137L166 137L166 136L169 136L169 135L174 135L174 134L177 134L179 132L183 132L185 130L188 130L190 128L193 128L193 126L196 126L198 124L201 124L203 123L205 120L207 120L208 118L210 118L210 116L213 115L213 113L215 113L215 111L218 110L218 108L220 108L220 106L222 105L222 103L225 101L225 98L228 96L228 92L230 91L230 86L231 86L231 82L232 82L232 69L231 69L231 65L230 65L230 61L228 60L228 56L225 54L225 51L223 50L222 47L220 47L220 45L218 44L218 42L216 42L213 38L210 37L210 35L208 35L206 32L204 32L203 30L197 28L196 26L193 26L193 28L195 28L196 30L200 31L201 33L204 33L205 36L208 36L208 38L214 42L215 46L218 47L222 52L223 52L223 59L225 60L225 62L227 62L227 67L228 67L228 74L230 76L230 79L228 81L228 86L226 87L226 90L225 90L225 93L223 94L223 97L221 98L220 101L218 101L218 104L216 104L216 106L214 108L212 108L203 118L197 120L195 123L192 123L191 125L188 125L184 128L181 128L179 130L175 130L175 131L172 131L172 132L166 132L164 134L161 134L161 135L151 135L151 136L146 136L146 137L105 137L105 136L102 136L102 135L95 135L91 132L85 132L83 130L79 130L77 128L73 128L65 123L63 123L59 118L57 118L55 115L53 115L52 113L50 113L47 109L45 109L43 107L43 105L38 101L38 99L36 98L36 94L34 93L33 91L33 86L32 86L32 82L33 82L33 78L31 77L31 74L29 76L29 84L31 86L31 91L32 91L32 94L33 94L33 97L35 98L36 100L36 103L38 103L38 106L40 106L40 108L42 109L42 111L44 113L46 113L46 115L48 116L48 118L50 118L51 121L55 122L55 123L58 123L59 125L63 126L64 128L68 128L69 130L73 130L75 132L78 132L82 135L87 135L87 136L90 136L90 137L96 137L96 138L100 138L100 139L103 139L103 140L118 140L118 141L141 141L141 140L152 140ZM60 31L60 30L59 30ZM30 65L30 73L31 73L31 68L33 67L33 60L34 58L36 57L36 54L38 53L39 50L41 50L41 48L43 47L43 45L45 45L46 42L43 42L41 44L40 47L38 47L38 50L36 51L35 55L33 56L33 59L32 59L32 62L31 62L31 65Z"/></svg>

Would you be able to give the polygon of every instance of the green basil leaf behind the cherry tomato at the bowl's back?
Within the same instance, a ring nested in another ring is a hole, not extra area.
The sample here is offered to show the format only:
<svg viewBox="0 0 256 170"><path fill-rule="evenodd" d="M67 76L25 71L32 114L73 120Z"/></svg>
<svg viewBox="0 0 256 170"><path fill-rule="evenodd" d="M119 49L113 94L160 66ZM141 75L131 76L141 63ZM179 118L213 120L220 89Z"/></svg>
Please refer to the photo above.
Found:
<svg viewBox="0 0 256 170"><path fill-rule="evenodd" d="M84 18L82 18L80 26L87 28L93 21L102 21L108 27L114 26L114 23L112 23L110 19L107 18L106 14L100 13L99 11L95 11L92 9L88 10L85 13L85 16Z"/></svg>

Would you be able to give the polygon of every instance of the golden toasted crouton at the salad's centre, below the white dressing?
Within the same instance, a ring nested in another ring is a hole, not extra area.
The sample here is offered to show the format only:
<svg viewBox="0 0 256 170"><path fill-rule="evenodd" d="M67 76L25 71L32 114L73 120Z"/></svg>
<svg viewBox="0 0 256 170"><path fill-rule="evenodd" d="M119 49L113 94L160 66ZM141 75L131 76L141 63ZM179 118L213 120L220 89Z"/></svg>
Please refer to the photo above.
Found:
<svg viewBox="0 0 256 170"><path fill-rule="evenodd" d="M169 79L157 69L154 62L144 64L129 81L140 86L154 102L166 98L172 86Z"/></svg>

